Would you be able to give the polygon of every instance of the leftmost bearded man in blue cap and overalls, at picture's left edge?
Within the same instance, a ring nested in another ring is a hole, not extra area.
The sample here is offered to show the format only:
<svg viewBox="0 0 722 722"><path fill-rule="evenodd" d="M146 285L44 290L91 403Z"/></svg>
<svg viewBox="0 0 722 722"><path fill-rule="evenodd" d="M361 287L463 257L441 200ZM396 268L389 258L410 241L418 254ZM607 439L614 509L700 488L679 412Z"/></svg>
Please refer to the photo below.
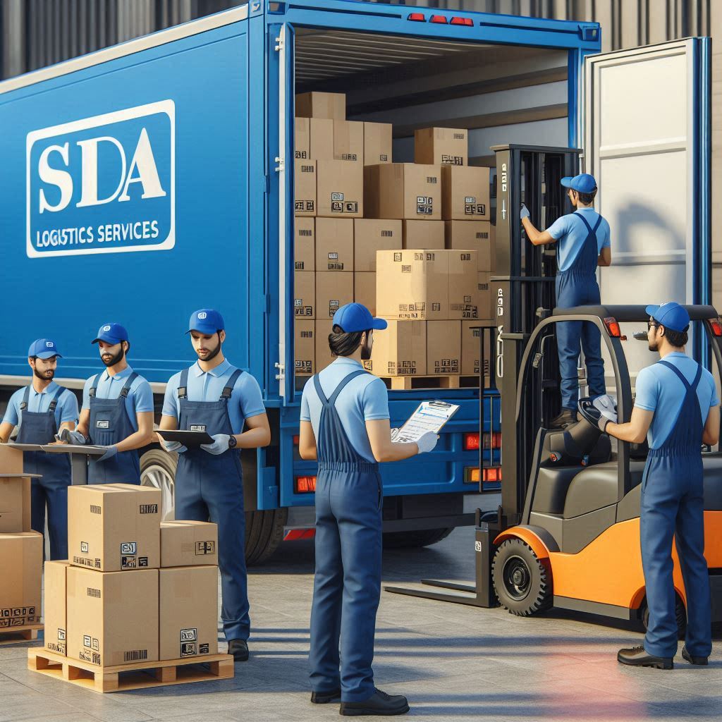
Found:
<svg viewBox="0 0 722 722"><path fill-rule="evenodd" d="M30 344L27 362L32 368L32 383L19 388L10 397L0 424L0 442L7 443L16 425L17 442L53 443L58 431L73 430L78 418L78 400L72 391L58 386L53 377L58 366L55 342L38 339ZM71 484L70 457L43 451L25 451L26 474L41 474L32 479L32 529L45 534L45 505L48 506L50 558L68 558L68 487Z"/></svg>

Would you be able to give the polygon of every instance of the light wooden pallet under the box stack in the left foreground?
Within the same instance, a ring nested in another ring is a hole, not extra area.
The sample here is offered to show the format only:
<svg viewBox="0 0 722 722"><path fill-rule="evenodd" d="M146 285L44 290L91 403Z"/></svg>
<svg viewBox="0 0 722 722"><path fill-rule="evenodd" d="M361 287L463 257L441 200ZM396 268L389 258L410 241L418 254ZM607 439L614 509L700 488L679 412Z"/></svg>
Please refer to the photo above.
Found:
<svg viewBox="0 0 722 722"><path fill-rule="evenodd" d="M232 679L233 657L230 654L210 654L192 659L98 667L46 649L28 649L27 669L63 679L93 692L124 692L142 690L144 687L207 682L210 679Z"/></svg>

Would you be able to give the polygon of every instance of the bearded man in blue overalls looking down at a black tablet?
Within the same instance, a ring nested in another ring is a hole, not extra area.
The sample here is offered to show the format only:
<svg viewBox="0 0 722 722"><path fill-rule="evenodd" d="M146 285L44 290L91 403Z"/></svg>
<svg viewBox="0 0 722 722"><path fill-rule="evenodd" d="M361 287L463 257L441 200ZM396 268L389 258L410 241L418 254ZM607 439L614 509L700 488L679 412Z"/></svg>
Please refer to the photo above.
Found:
<svg viewBox="0 0 722 722"><path fill-rule="evenodd" d="M198 360L165 387L161 430L205 431L213 443L187 448L160 441L178 453L175 518L218 525L223 631L235 661L248 659L248 575L240 450L271 443L261 388L250 373L223 355L225 324L212 308L191 314L188 333Z"/></svg>

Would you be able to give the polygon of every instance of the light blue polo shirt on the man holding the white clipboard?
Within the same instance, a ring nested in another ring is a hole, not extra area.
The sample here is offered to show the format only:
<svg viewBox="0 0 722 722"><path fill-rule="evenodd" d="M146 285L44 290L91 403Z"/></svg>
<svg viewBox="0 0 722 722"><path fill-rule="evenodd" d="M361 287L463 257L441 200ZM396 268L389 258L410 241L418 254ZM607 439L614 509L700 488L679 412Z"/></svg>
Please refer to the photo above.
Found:
<svg viewBox="0 0 722 722"><path fill-rule="evenodd" d="M336 391L336 386L349 373L362 369L362 365L346 357L339 357L318 374L326 399ZM306 381L301 397L301 421L310 421L313 433L318 440L318 426L321 423L321 399L318 398L313 377ZM336 411L341 419L349 443L368 461L375 463L371 444L366 432L366 422L388 419L388 392L386 384L370 373L357 376L347 383L339 398L336 399Z"/></svg>

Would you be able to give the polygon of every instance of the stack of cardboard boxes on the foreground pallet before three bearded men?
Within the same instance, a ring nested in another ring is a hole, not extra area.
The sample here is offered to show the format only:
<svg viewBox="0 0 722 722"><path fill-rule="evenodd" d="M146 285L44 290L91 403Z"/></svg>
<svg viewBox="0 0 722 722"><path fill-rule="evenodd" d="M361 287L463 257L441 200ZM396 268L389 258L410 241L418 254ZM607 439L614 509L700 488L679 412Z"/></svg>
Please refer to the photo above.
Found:
<svg viewBox="0 0 722 722"><path fill-rule="evenodd" d="M45 562L48 651L99 667L217 654L215 524L160 523L148 487L70 487L68 549Z"/></svg>

